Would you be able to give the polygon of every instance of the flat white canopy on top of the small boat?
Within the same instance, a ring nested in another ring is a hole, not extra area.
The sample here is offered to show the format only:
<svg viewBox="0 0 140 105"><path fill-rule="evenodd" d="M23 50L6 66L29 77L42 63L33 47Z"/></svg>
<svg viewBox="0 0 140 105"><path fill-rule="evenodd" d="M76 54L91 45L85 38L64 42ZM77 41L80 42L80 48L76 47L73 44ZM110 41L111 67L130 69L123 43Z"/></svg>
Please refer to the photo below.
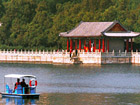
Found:
<svg viewBox="0 0 140 105"><path fill-rule="evenodd" d="M5 78L36 78L34 75L21 75L21 74L8 74L4 76Z"/></svg>

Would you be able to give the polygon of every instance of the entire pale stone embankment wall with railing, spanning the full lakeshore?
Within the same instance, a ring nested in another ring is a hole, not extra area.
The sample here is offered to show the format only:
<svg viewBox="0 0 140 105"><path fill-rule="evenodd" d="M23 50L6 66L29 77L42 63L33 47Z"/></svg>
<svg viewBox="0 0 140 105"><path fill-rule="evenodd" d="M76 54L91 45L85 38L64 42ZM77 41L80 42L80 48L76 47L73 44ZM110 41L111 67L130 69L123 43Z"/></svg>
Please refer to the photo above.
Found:
<svg viewBox="0 0 140 105"><path fill-rule="evenodd" d="M62 64L140 63L139 52L0 51L1 62L43 62Z"/></svg>

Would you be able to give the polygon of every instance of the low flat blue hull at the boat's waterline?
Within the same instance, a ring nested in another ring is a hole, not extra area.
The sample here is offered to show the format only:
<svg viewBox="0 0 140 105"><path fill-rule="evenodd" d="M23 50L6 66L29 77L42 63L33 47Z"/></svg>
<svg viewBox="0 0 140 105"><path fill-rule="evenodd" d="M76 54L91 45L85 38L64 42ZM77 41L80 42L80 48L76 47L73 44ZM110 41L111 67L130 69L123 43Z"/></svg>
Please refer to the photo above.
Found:
<svg viewBox="0 0 140 105"><path fill-rule="evenodd" d="M3 98L7 97L15 97L15 98L39 98L39 93L36 94L9 94L9 93L1 93Z"/></svg>

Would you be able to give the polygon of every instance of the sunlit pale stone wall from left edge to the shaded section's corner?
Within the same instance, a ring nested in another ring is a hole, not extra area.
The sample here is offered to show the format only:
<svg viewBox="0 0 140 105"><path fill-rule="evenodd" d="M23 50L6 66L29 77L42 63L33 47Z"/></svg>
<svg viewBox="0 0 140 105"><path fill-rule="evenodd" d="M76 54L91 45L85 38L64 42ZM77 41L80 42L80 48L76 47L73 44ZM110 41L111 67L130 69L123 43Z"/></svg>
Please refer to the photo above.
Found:
<svg viewBox="0 0 140 105"><path fill-rule="evenodd" d="M0 61L5 62L44 62L44 63L75 63L78 59L80 63L101 63L101 53L99 52L79 52L75 56L73 52L70 57L70 52L45 52L45 51L0 51Z"/></svg>

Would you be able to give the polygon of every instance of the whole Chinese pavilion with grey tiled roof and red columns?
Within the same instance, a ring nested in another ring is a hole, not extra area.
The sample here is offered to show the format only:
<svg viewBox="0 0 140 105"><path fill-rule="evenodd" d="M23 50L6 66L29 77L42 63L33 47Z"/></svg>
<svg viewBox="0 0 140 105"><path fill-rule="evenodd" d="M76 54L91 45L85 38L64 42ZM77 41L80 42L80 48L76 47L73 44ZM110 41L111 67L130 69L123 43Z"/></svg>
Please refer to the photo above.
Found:
<svg viewBox="0 0 140 105"><path fill-rule="evenodd" d="M133 38L140 33L127 30L120 22L81 22L77 27L59 34L67 38L67 51L112 52L133 50Z"/></svg>

